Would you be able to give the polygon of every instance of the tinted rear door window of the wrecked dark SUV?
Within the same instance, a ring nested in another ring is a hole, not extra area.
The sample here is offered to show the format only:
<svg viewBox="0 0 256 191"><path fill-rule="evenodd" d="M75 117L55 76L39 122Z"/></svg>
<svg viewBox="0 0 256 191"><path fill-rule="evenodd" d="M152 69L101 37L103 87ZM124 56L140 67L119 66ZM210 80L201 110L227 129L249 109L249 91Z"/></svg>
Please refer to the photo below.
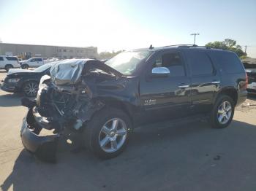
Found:
<svg viewBox="0 0 256 191"><path fill-rule="evenodd" d="M214 69L205 52L189 51L186 53L192 76L212 74Z"/></svg>

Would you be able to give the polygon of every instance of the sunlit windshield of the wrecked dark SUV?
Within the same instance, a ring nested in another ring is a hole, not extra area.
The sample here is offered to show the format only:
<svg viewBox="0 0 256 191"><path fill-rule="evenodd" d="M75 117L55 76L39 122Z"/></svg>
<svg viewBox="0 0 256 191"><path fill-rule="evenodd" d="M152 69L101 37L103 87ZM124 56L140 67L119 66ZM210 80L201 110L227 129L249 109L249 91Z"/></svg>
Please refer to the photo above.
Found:
<svg viewBox="0 0 256 191"><path fill-rule="evenodd" d="M140 61L148 57L150 54L151 51L147 50L121 52L114 58L111 58L109 61L105 62L105 64L113 69L116 69L121 74L130 75L135 71Z"/></svg>

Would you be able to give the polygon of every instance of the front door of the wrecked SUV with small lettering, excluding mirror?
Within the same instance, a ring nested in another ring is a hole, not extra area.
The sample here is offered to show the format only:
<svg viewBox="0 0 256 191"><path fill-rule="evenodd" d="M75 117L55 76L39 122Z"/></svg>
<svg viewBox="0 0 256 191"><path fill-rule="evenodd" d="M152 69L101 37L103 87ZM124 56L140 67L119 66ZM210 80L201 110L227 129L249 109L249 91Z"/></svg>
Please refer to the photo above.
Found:
<svg viewBox="0 0 256 191"><path fill-rule="evenodd" d="M140 105L144 111L140 120L157 122L187 116L191 105L190 79L182 52L157 52L148 65L146 77L140 80ZM152 69L157 67L166 67L170 74L151 76Z"/></svg>

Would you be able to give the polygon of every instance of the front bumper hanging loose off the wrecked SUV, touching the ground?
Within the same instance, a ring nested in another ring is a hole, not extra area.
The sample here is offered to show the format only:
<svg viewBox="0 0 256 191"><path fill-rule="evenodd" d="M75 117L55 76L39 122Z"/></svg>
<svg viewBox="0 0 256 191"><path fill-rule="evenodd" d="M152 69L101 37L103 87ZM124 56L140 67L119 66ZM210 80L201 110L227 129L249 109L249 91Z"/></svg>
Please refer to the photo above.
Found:
<svg viewBox="0 0 256 191"><path fill-rule="evenodd" d="M55 163L56 149L59 141L59 134L40 136L42 125L34 118L33 109L23 119L20 130L21 141L24 147L41 160Z"/></svg>

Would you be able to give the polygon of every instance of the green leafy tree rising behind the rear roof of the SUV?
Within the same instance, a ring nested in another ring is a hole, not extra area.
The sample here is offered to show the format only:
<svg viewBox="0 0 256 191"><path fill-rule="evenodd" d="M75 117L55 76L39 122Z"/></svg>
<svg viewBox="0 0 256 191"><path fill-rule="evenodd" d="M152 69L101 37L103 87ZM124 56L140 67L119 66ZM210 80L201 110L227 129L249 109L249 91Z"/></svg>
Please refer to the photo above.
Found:
<svg viewBox="0 0 256 191"><path fill-rule="evenodd" d="M215 41L208 42L206 47L217 48L221 50L230 50L236 52L236 54L241 56L246 56L246 52L242 50L242 47L239 44L236 44L236 40L233 39L225 39L224 41Z"/></svg>

